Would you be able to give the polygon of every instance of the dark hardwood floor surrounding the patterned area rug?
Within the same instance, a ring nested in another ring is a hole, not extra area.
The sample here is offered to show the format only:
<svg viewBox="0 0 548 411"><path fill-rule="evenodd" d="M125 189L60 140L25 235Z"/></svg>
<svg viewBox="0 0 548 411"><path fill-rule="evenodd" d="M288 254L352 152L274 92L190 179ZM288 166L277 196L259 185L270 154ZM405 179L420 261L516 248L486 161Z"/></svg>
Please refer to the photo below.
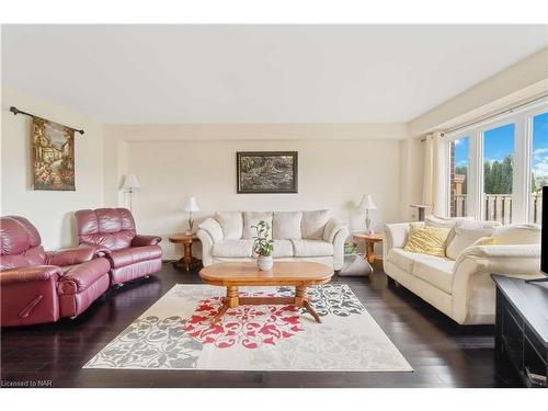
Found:
<svg viewBox="0 0 548 411"><path fill-rule="evenodd" d="M495 359L493 327L459 327L381 270L369 278L334 277L365 304L413 373L279 373L82 369L88 359L175 283L197 283L164 264L157 277L112 288L82 316L54 324L2 329L1 380L53 387L520 387Z"/></svg>

